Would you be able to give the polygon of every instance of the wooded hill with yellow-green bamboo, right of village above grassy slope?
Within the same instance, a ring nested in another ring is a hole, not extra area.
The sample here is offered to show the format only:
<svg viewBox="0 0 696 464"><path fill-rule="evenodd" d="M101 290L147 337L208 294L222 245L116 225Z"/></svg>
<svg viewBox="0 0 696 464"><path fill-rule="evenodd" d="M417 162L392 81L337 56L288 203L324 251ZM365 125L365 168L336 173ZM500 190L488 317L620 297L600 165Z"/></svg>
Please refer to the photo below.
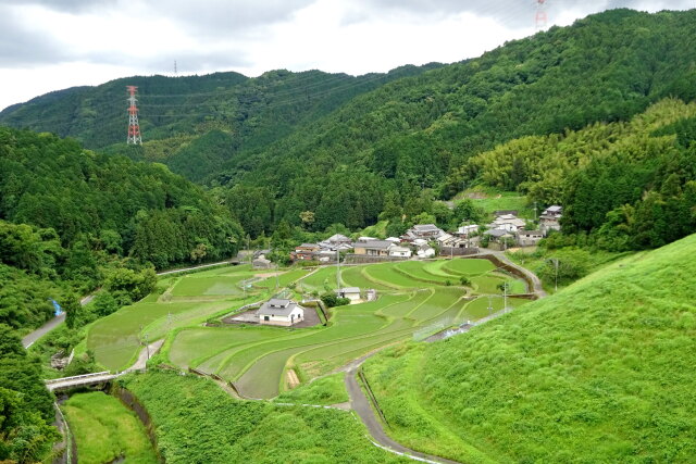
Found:
<svg viewBox="0 0 696 464"><path fill-rule="evenodd" d="M566 237L657 248L696 230L696 103L663 100L630 122L529 136L471 158L463 175L563 204Z"/></svg>

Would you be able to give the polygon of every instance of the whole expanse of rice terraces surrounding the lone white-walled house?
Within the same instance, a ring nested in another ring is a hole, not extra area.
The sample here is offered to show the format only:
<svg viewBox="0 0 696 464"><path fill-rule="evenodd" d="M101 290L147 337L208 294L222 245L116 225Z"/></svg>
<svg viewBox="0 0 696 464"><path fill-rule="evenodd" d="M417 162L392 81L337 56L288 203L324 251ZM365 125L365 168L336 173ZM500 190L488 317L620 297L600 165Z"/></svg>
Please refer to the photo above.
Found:
<svg viewBox="0 0 696 464"><path fill-rule="evenodd" d="M86 348L120 371L144 342L164 337L162 364L215 375L244 397L270 399L382 347L480 319L505 301L508 308L530 301L515 297L530 291L522 278L485 259L402 261L341 266L343 287L373 289L377 298L327 314L308 302L319 315L313 327L223 322L271 297L313 300L337 288L337 272L334 265L262 273L245 264L167 277L158 292L96 322Z"/></svg>

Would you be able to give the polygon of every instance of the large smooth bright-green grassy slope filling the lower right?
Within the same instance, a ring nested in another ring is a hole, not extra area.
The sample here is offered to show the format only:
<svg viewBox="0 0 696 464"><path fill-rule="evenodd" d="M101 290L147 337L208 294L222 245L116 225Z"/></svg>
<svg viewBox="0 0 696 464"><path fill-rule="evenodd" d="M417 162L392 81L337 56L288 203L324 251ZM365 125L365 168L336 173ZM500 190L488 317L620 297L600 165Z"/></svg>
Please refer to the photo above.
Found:
<svg viewBox="0 0 696 464"><path fill-rule="evenodd" d="M502 461L689 461L694 251L691 236L468 335L370 360L391 434L464 460L473 446Z"/></svg>

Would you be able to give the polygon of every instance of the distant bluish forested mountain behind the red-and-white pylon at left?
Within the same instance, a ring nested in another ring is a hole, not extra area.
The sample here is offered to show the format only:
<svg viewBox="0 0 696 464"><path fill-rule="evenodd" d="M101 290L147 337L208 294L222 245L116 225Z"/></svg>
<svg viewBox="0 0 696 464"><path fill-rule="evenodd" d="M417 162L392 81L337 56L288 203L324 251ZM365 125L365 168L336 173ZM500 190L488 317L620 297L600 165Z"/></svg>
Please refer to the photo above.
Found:
<svg viewBox="0 0 696 464"><path fill-rule="evenodd" d="M282 70L257 78L237 73L135 76L37 97L5 109L0 123L70 136L87 148L103 149L125 141L125 86L135 85L146 143L142 151L129 154L150 160L173 156L177 172L202 180L219 162L240 150L265 147L360 93L437 66L402 66L388 74L359 77ZM221 136L224 146L211 142ZM190 142L192 147L188 147ZM182 148L187 149L178 153Z"/></svg>

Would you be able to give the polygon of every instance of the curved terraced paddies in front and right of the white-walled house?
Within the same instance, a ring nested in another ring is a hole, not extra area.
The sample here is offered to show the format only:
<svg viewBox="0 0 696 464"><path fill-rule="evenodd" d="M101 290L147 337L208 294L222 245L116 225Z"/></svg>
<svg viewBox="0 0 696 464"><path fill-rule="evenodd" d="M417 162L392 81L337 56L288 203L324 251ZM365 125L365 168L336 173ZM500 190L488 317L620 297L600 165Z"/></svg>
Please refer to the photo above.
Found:
<svg viewBox="0 0 696 464"><path fill-rule="evenodd" d="M335 289L336 266L320 268L306 278L296 269L283 277L302 291ZM461 276L474 283L459 285ZM245 396L273 398L287 388L287 369L301 380L330 373L352 359L391 342L410 338L423 327L445 321L457 324L488 314L488 299L472 294L490 293L493 308L502 305L497 286L510 281L486 260L406 261L341 268L341 285L373 288L376 301L333 309L327 327L287 329L278 327L196 327L174 337L167 355L173 364L216 374L232 380ZM275 286L275 278L266 284ZM254 284L257 287L264 281ZM510 306L526 300L508 299Z"/></svg>

